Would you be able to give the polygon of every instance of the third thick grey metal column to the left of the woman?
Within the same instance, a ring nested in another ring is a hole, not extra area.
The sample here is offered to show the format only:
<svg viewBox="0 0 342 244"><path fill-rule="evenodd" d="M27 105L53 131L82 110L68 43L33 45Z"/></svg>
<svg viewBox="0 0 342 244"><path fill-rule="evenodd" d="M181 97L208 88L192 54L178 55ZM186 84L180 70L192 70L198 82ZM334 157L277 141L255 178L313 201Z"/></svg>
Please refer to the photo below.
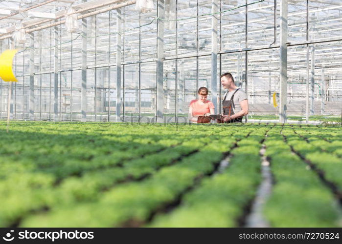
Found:
<svg viewBox="0 0 342 244"><path fill-rule="evenodd" d="M82 19L82 86L81 111L82 122L87 122L87 19Z"/></svg>

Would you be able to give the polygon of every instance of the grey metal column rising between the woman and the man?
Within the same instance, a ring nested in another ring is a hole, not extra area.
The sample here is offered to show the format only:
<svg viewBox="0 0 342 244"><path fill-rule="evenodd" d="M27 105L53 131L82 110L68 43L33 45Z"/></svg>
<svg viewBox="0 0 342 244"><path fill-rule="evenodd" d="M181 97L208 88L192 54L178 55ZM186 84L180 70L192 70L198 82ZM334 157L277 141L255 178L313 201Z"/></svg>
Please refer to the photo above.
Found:
<svg viewBox="0 0 342 244"><path fill-rule="evenodd" d="M218 0L211 1L211 13L217 13ZM211 17L211 96L217 114L217 16Z"/></svg>

